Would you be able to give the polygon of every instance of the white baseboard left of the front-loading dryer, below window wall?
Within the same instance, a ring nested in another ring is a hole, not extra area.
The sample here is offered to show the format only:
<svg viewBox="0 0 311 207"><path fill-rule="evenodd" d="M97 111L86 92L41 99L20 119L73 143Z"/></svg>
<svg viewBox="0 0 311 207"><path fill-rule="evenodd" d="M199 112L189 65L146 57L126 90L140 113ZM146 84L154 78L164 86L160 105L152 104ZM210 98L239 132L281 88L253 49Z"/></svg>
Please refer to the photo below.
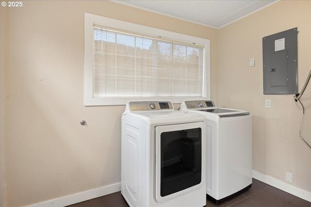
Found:
<svg viewBox="0 0 311 207"><path fill-rule="evenodd" d="M65 207L118 191L121 191L121 183L115 183L89 191L78 192L76 194L34 204L29 207Z"/></svg>

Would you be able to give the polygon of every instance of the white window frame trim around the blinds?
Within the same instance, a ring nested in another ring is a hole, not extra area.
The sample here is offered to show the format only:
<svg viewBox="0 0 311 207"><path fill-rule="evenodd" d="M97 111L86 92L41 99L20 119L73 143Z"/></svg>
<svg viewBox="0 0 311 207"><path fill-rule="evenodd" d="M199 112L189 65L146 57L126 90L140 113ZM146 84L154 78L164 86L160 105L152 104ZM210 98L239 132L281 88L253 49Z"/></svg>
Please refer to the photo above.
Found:
<svg viewBox="0 0 311 207"><path fill-rule="evenodd" d="M146 35L161 36L165 39L172 39L182 42L204 45L204 80L202 97L93 97L93 25L104 25L129 32L139 32ZM176 32L159 30L152 27L133 24L104 16L97 16L85 13L84 15L84 105L85 106L107 106L125 105L129 101L171 101L181 103L187 100L210 99L210 50L209 40L189 36Z"/></svg>

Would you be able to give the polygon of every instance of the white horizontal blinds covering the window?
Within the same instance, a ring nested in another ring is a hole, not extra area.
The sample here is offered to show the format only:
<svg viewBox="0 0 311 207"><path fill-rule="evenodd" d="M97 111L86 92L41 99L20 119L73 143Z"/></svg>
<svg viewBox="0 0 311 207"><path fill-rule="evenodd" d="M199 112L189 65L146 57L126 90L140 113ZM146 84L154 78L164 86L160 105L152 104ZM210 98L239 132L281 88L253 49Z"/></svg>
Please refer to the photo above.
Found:
<svg viewBox="0 0 311 207"><path fill-rule="evenodd" d="M202 96L202 46L94 25L93 47L93 97Z"/></svg>

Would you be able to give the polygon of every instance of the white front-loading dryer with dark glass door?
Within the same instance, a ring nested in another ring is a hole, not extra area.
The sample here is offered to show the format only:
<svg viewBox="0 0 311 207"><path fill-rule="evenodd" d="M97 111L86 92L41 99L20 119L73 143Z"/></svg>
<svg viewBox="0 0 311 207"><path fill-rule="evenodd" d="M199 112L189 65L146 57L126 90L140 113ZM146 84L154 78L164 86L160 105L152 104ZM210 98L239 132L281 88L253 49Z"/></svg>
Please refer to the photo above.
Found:
<svg viewBox="0 0 311 207"><path fill-rule="evenodd" d="M206 205L205 120L169 101L126 105L121 193L130 207Z"/></svg>

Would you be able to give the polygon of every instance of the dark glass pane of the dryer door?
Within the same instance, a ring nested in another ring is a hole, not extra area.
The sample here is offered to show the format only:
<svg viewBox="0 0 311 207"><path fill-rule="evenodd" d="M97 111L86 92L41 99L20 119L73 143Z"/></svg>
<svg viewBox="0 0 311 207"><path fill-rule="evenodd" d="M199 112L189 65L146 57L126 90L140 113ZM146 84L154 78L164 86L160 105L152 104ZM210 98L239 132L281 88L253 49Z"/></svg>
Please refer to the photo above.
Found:
<svg viewBox="0 0 311 207"><path fill-rule="evenodd" d="M161 133L160 195L162 197L201 183L202 129Z"/></svg>

